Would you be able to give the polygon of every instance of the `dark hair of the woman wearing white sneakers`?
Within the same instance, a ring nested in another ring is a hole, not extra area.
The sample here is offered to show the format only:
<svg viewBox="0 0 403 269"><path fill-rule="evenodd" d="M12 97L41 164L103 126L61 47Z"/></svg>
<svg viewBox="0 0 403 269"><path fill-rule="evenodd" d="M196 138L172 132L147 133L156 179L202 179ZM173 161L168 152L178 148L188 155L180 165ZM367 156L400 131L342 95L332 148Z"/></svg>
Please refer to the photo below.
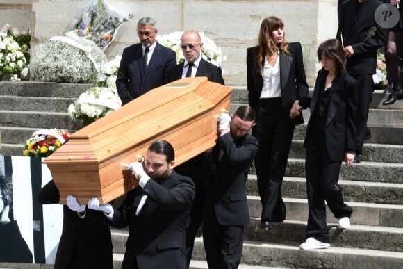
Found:
<svg viewBox="0 0 403 269"><path fill-rule="evenodd" d="M320 44L318 47L319 62L322 56L333 59L336 62L337 74L345 72L346 58L344 54L344 49L341 46L340 41L338 41L337 39L329 39L322 42L322 44Z"/></svg>

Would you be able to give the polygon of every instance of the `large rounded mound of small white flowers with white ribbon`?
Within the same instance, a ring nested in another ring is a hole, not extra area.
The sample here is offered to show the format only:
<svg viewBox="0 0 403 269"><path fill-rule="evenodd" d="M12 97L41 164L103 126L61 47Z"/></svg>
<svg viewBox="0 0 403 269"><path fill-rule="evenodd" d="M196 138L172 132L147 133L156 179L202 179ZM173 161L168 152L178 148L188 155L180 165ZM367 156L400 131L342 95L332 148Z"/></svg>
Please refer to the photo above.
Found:
<svg viewBox="0 0 403 269"><path fill-rule="evenodd" d="M29 65L31 81L91 83L107 58L97 45L74 33L38 45Z"/></svg>

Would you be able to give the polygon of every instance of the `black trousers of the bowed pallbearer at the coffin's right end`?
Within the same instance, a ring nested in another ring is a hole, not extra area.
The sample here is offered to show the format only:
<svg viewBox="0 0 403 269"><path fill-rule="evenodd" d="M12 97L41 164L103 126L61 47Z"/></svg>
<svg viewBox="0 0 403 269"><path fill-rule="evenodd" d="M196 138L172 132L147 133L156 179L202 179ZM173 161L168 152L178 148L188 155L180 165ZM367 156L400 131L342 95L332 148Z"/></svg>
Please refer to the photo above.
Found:
<svg viewBox="0 0 403 269"><path fill-rule="evenodd" d="M203 243L209 269L236 269L243 247L243 225L224 226L213 215L203 223Z"/></svg>

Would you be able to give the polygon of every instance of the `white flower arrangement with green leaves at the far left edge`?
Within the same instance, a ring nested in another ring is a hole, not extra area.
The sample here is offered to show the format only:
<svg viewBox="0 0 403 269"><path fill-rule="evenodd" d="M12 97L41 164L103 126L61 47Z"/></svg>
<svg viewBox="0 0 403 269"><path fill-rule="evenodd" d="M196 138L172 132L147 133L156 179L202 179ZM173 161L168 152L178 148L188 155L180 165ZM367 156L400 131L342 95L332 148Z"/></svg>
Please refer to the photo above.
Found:
<svg viewBox="0 0 403 269"><path fill-rule="evenodd" d="M0 81L8 79L10 81L21 81L28 74L26 55L28 47L20 47L17 38L20 33L16 28L6 24L0 29Z"/></svg>

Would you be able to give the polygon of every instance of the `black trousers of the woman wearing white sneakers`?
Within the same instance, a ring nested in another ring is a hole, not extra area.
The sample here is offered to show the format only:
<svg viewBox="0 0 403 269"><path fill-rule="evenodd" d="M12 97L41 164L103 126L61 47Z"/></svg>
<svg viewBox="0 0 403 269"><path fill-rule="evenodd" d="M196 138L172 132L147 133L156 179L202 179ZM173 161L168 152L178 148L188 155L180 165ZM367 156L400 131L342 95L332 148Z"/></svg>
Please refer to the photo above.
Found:
<svg viewBox="0 0 403 269"><path fill-rule="evenodd" d="M312 116L311 116L312 117ZM352 208L343 201L342 189L338 185L340 161L331 161L327 153L324 138L325 120L313 116L310 124L311 133L306 145L306 191L308 194L309 217L306 238L313 237L324 243L330 243L326 223L326 205L335 218L352 215ZM340 145L343 147L343 145Z"/></svg>

